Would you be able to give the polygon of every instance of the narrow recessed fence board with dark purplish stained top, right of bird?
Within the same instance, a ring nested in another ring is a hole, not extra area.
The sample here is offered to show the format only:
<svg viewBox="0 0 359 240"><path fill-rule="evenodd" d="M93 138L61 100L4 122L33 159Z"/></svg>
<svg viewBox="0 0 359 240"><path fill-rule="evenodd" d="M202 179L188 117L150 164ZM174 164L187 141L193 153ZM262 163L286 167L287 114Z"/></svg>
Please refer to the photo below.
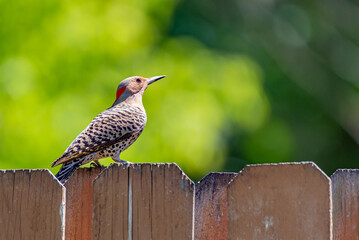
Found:
<svg viewBox="0 0 359 240"><path fill-rule="evenodd" d="M236 175L210 173L196 184L196 240L227 239L227 186Z"/></svg>

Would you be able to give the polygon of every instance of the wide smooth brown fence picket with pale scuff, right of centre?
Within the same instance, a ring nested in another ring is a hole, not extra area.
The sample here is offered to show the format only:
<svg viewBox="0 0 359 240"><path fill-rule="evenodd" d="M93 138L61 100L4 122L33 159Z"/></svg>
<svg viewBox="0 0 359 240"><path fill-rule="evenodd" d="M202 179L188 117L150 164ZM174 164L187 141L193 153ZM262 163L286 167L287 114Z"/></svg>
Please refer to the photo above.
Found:
<svg viewBox="0 0 359 240"><path fill-rule="evenodd" d="M332 239L330 179L314 163L246 166L228 186L228 239Z"/></svg>

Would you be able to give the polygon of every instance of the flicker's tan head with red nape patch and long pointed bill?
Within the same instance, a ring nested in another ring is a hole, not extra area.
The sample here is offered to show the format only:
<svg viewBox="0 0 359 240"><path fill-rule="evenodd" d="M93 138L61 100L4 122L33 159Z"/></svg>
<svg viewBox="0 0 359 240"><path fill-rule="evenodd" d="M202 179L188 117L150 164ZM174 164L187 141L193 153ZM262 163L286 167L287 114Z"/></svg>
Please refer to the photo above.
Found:
<svg viewBox="0 0 359 240"><path fill-rule="evenodd" d="M164 77L165 75L151 78L134 76L122 80L117 87L116 100L113 105L125 101L127 98L134 95L142 96L148 85Z"/></svg>

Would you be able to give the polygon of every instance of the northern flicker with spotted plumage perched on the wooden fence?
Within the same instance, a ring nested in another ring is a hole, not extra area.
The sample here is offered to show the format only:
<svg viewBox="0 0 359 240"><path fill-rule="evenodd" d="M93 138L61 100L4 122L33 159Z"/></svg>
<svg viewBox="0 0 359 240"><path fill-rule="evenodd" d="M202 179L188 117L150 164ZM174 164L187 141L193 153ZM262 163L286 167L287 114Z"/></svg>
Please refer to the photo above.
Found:
<svg viewBox="0 0 359 240"><path fill-rule="evenodd" d="M142 95L148 85L164 78L129 77L117 88L113 105L97 115L66 149L64 154L52 163L62 164L56 178L64 183L83 164L111 157L115 162L124 162L120 153L127 149L143 131L147 116L142 104Z"/></svg>

